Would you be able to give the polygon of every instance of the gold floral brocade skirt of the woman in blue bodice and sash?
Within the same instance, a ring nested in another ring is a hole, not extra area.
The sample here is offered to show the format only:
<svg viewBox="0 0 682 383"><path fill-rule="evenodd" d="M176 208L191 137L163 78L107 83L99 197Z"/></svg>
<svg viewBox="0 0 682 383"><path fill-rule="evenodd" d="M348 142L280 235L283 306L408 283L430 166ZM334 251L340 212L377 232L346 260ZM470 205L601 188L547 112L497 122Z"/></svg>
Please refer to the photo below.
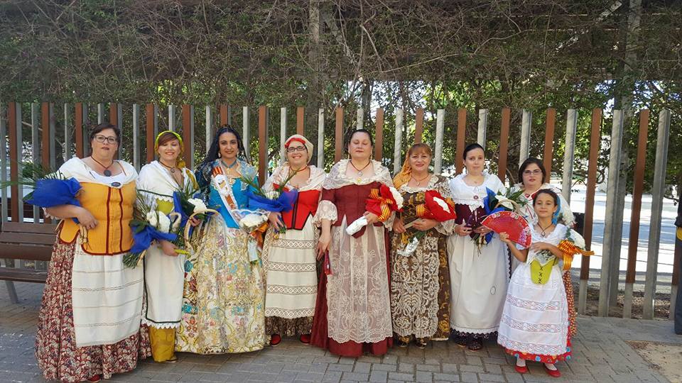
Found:
<svg viewBox="0 0 682 383"><path fill-rule="evenodd" d="M249 261L249 235L213 216L185 261L183 318L175 351L247 353L266 344L259 262Z"/></svg>

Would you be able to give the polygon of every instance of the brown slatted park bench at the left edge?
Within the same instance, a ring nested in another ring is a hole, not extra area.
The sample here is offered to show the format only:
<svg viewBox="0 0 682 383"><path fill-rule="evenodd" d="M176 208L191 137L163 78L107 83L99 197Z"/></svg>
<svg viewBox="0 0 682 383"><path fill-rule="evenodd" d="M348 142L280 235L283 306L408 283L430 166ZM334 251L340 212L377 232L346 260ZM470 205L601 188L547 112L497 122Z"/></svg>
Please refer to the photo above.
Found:
<svg viewBox="0 0 682 383"><path fill-rule="evenodd" d="M0 259L5 260L5 267L0 267L0 279L6 281L12 303L17 303L15 282L45 283L47 270L36 270L36 262L49 262L55 244L55 229L51 223L16 223L4 222L0 226ZM33 261L33 269L24 267L8 267L8 260L23 265L25 261Z"/></svg>

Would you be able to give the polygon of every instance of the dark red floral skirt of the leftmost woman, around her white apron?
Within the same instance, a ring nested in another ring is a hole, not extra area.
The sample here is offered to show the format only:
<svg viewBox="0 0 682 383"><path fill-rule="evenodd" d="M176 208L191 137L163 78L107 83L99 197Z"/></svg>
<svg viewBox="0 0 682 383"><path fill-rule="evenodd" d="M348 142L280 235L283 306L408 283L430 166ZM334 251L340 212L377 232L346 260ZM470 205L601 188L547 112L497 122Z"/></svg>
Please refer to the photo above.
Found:
<svg viewBox="0 0 682 383"><path fill-rule="evenodd" d="M36 333L36 359L45 379L81 382L96 374L133 370L138 357L151 355L146 326L111 345L76 347L73 327L71 276L76 241L55 243Z"/></svg>

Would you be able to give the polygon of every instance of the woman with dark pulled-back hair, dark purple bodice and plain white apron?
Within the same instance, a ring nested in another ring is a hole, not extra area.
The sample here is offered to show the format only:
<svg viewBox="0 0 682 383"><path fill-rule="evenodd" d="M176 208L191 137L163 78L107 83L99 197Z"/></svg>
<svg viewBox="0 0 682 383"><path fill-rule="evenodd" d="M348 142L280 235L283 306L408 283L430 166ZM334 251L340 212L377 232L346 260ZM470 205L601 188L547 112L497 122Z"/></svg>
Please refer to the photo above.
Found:
<svg viewBox="0 0 682 383"><path fill-rule="evenodd" d="M481 145L468 145L463 160L467 172L450 180L458 223L448 238L453 287L450 326L455 343L476 351L482 348L483 338L497 331L509 282L509 257L497 234L488 243L474 238L485 238L490 232L480 226L487 189L495 193L505 189L497 176L485 172Z"/></svg>

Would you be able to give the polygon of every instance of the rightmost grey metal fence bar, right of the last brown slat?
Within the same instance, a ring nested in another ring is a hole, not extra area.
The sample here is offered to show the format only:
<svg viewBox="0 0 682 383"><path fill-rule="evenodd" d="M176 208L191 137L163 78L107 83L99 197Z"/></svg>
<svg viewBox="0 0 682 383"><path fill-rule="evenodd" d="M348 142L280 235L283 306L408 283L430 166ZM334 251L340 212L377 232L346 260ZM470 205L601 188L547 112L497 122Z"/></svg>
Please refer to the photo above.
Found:
<svg viewBox="0 0 682 383"><path fill-rule="evenodd" d="M656 162L654 163L654 182L651 187L651 223L649 224L649 251L646 258L646 279L644 280L644 301L642 318L654 318L654 297L656 296L656 271L659 265L659 245L661 244L661 218L663 197L666 191L666 163L670 140L670 111L659 113L659 132L656 136Z"/></svg>

